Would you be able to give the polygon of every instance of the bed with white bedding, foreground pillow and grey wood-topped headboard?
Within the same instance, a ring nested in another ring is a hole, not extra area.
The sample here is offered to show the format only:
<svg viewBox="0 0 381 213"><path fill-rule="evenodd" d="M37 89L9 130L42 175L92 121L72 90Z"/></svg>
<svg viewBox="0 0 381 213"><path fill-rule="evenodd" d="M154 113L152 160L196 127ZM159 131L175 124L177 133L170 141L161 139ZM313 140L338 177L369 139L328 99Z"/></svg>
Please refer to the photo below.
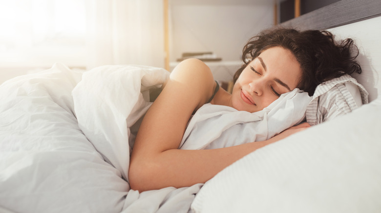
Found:
<svg viewBox="0 0 381 213"><path fill-rule="evenodd" d="M284 23L354 38L362 73L353 77L369 104L180 189L139 193L127 182L133 135L167 71L56 64L8 80L0 85L0 212L380 212L380 14L378 0L341 0Z"/></svg>

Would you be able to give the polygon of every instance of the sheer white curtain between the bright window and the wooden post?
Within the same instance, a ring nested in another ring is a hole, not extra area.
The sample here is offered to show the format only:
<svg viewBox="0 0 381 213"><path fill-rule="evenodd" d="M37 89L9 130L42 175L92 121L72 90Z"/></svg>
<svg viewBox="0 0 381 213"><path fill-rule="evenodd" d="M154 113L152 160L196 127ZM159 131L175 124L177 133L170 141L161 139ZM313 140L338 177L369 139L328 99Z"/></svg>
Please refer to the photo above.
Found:
<svg viewBox="0 0 381 213"><path fill-rule="evenodd" d="M139 64L164 68L162 0L87 0L86 68Z"/></svg>

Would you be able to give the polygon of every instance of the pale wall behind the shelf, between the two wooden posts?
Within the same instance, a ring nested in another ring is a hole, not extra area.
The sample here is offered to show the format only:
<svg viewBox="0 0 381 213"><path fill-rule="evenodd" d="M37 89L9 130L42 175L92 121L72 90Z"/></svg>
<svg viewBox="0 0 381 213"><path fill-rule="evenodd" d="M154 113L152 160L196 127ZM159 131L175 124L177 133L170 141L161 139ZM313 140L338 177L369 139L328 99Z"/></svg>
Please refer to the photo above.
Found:
<svg viewBox="0 0 381 213"><path fill-rule="evenodd" d="M183 52L240 60L246 41L274 23L268 0L170 0L170 61Z"/></svg>

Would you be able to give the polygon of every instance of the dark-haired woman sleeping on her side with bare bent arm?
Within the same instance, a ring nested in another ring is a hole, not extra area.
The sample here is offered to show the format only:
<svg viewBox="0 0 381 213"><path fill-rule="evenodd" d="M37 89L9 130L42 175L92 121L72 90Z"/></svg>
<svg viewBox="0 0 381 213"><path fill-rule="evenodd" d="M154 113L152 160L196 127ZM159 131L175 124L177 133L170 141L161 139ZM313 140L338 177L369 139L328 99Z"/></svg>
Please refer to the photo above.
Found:
<svg viewBox="0 0 381 213"><path fill-rule="evenodd" d="M245 45L244 65L234 74L232 94L218 87L202 61L182 61L139 128L128 172L131 188L142 192L204 183L254 150L308 128L303 123L267 141L226 148L178 149L192 114L204 104L256 112L295 88L311 96L322 82L361 72L355 61L358 51L353 56L352 50L357 51L352 39L337 43L326 31L264 31Z"/></svg>

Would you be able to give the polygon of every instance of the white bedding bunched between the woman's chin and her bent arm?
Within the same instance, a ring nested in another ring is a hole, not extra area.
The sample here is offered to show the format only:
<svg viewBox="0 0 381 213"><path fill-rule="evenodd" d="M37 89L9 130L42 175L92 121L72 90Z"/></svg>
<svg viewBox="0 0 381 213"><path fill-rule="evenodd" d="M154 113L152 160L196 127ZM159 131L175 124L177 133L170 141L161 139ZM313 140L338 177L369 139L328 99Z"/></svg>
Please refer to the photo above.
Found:
<svg viewBox="0 0 381 213"><path fill-rule="evenodd" d="M191 118L179 148L217 149L269 140L302 122L310 101L307 92L294 89L254 113L206 104Z"/></svg>

